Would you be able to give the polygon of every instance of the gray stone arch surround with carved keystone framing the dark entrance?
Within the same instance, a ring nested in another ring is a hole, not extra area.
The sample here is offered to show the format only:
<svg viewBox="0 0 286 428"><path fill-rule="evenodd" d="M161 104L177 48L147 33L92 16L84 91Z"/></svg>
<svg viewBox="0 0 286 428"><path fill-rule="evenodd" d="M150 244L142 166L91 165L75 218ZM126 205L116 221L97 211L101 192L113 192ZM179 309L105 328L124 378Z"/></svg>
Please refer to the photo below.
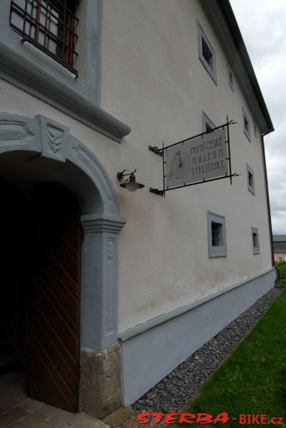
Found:
<svg viewBox="0 0 286 428"><path fill-rule="evenodd" d="M1 178L30 202L34 202L36 186L48 182L50 189L66 189L78 206L83 240L78 333L81 379L76 394L81 399L73 403L73 411L103 417L121 404L117 241L125 219L119 214L111 180L96 156L68 128L44 116L0 114L0 170ZM113 366L113 379L104 375L104 365L109 370Z"/></svg>

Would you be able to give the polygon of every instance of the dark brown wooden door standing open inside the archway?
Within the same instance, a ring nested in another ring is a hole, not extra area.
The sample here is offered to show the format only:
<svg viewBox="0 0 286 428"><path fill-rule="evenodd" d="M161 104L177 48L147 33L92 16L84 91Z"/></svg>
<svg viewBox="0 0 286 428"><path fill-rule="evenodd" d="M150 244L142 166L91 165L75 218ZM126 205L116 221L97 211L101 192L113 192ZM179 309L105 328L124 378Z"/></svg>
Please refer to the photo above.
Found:
<svg viewBox="0 0 286 428"><path fill-rule="evenodd" d="M34 191L34 257L29 287L27 393L78 410L81 229L63 186Z"/></svg>

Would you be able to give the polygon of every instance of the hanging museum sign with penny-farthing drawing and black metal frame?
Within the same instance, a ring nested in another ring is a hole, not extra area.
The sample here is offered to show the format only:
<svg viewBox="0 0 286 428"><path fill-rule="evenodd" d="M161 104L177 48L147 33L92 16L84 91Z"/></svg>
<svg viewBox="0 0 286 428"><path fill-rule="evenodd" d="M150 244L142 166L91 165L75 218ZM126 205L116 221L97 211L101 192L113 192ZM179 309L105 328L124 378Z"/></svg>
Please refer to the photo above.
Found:
<svg viewBox="0 0 286 428"><path fill-rule="evenodd" d="M163 156L163 190L150 188L150 192L165 195L165 191L188 185L230 178L230 121L213 131L204 132L163 148L150 147Z"/></svg>

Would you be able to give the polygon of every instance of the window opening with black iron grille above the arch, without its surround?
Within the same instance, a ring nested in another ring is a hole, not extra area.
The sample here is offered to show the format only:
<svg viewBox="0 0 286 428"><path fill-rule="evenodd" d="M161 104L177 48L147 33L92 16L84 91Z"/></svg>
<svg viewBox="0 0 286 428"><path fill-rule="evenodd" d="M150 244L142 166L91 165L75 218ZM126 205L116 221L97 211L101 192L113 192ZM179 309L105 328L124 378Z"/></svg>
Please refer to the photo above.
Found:
<svg viewBox="0 0 286 428"><path fill-rule="evenodd" d="M10 25L23 37L76 74L75 0L11 0Z"/></svg>

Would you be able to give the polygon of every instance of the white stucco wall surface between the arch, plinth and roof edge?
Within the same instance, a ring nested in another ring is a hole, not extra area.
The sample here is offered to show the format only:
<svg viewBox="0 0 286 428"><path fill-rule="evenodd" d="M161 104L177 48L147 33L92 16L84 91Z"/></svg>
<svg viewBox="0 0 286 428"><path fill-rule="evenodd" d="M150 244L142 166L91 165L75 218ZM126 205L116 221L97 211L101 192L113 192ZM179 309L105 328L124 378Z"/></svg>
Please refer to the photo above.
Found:
<svg viewBox="0 0 286 428"><path fill-rule="evenodd" d="M198 59L197 21L215 50L218 84ZM71 129L103 163L128 223L120 235L119 330L150 320L271 267L262 150L252 115L234 81L228 61L197 1L104 0L101 107L131 126L116 143L1 82L1 111L42 114ZM242 106L251 143L242 130ZM148 151L202 131L202 111L217 125L226 115L233 172L241 176L173 190L165 198L162 160ZM255 196L247 190L246 163L255 172ZM137 168L145 188L128 193L116 173ZM208 258L207 210L225 215L228 255ZM251 227L260 234L260 255L252 255Z"/></svg>

